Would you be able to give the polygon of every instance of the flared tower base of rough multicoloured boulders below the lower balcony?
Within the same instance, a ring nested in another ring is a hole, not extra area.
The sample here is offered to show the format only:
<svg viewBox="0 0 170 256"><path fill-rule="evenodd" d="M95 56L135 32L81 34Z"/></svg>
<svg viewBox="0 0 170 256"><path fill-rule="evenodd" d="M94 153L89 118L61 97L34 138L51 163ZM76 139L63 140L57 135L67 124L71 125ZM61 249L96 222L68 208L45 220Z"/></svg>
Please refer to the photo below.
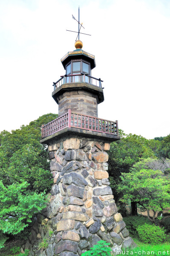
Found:
<svg viewBox="0 0 170 256"><path fill-rule="evenodd" d="M107 150L109 143L76 137L49 145L54 184L23 246L30 256L81 256L101 239L113 255L135 246L109 186ZM45 250L38 249L43 239Z"/></svg>

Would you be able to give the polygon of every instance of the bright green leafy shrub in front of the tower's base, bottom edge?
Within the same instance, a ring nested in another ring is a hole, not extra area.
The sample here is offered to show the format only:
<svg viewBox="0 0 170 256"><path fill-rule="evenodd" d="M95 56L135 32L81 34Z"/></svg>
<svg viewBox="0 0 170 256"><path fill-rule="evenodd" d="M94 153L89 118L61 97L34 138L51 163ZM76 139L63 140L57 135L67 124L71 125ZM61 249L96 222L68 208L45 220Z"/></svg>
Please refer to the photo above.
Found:
<svg viewBox="0 0 170 256"><path fill-rule="evenodd" d="M100 240L94 245L91 250L82 253L81 256L111 256L111 248L106 241Z"/></svg>

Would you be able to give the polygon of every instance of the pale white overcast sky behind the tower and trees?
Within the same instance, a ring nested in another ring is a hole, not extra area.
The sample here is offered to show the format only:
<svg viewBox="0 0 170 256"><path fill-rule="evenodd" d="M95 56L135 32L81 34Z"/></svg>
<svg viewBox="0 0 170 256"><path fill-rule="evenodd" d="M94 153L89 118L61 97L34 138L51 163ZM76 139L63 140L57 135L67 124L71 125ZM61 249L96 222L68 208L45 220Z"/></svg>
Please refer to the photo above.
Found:
<svg viewBox="0 0 170 256"><path fill-rule="evenodd" d="M0 0L0 131L58 113L53 81L75 49L78 6L83 50L104 82L98 117L126 134L170 134L170 0Z"/></svg>

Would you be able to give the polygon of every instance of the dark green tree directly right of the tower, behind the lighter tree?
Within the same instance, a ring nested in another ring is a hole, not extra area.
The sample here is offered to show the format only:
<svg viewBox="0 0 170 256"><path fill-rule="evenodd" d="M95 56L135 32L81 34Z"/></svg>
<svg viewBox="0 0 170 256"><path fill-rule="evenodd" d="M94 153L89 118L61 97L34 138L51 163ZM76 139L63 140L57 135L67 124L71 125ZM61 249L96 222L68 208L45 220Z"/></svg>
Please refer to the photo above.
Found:
<svg viewBox="0 0 170 256"><path fill-rule="evenodd" d="M121 140L112 142L109 151L109 179L117 202L122 196L121 191L117 190L121 173L128 173L141 158L156 158L155 152L160 143L136 134L127 135L123 131L120 134Z"/></svg>

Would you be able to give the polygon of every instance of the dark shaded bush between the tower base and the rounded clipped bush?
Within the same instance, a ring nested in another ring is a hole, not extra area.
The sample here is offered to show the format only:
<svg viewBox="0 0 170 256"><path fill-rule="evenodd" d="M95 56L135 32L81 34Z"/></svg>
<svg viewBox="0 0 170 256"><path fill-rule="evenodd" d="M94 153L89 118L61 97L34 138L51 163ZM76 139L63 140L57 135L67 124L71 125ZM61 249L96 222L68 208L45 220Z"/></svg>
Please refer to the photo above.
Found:
<svg viewBox="0 0 170 256"><path fill-rule="evenodd" d="M124 218L126 227L129 233L133 237L138 237L137 228L145 223L150 224L150 221L144 216L129 216Z"/></svg>

